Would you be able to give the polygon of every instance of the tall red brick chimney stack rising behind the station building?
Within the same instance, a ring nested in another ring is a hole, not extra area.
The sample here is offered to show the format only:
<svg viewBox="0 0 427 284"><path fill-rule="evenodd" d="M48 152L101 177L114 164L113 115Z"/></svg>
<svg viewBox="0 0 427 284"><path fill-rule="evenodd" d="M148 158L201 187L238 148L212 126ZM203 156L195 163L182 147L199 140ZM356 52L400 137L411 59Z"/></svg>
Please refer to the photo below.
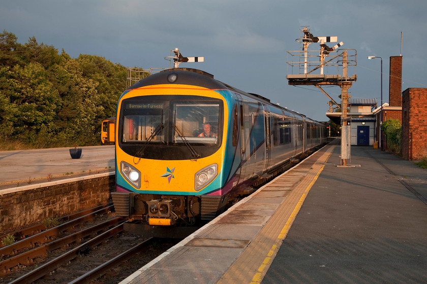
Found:
<svg viewBox="0 0 427 284"><path fill-rule="evenodd" d="M402 107L402 56L390 56L389 82L390 107Z"/></svg>

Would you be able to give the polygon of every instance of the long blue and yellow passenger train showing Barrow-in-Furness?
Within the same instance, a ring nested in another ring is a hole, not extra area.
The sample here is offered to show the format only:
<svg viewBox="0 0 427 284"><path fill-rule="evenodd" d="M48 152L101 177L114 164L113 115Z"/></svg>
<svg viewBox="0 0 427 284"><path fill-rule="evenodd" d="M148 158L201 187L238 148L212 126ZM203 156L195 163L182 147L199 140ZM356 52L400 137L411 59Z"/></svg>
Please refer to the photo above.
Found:
<svg viewBox="0 0 427 284"><path fill-rule="evenodd" d="M324 124L202 70L150 75L117 104L116 215L151 227L208 222L326 134Z"/></svg>

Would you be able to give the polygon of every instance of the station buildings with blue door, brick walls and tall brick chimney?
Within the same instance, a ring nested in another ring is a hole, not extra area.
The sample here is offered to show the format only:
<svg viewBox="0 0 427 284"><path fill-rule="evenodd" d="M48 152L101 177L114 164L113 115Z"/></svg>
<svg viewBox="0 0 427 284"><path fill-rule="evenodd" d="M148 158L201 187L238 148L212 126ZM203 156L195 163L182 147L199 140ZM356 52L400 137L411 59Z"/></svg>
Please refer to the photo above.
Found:
<svg viewBox="0 0 427 284"><path fill-rule="evenodd" d="M375 99L349 99L351 145L374 145L380 141L387 150L381 121L396 119L402 123L402 157L419 160L427 156L427 88L408 88L402 92L402 56L390 56L388 101L378 106ZM382 120L381 120L382 114ZM341 124L341 113L326 113Z"/></svg>

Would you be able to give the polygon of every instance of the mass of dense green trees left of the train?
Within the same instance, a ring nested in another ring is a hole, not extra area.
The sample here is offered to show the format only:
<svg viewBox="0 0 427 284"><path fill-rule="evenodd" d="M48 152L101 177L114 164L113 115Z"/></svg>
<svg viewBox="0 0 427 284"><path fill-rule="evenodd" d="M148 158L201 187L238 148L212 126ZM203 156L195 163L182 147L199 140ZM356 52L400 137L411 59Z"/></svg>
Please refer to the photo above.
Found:
<svg viewBox="0 0 427 284"><path fill-rule="evenodd" d="M100 145L101 122L115 116L126 67L103 57L0 33L0 150ZM23 145L23 146L22 146Z"/></svg>

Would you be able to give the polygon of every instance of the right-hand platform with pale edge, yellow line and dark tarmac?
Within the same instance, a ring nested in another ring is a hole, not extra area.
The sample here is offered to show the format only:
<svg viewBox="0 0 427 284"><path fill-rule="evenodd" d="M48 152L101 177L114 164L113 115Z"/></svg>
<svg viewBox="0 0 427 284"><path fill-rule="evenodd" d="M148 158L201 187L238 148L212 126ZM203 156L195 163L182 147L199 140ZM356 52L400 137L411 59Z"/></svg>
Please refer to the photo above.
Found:
<svg viewBox="0 0 427 284"><path fill-rule="evenodd" d="M371 147L337 167L340 150L314 153L120 283L426 282L427 171Z"/></svg>

